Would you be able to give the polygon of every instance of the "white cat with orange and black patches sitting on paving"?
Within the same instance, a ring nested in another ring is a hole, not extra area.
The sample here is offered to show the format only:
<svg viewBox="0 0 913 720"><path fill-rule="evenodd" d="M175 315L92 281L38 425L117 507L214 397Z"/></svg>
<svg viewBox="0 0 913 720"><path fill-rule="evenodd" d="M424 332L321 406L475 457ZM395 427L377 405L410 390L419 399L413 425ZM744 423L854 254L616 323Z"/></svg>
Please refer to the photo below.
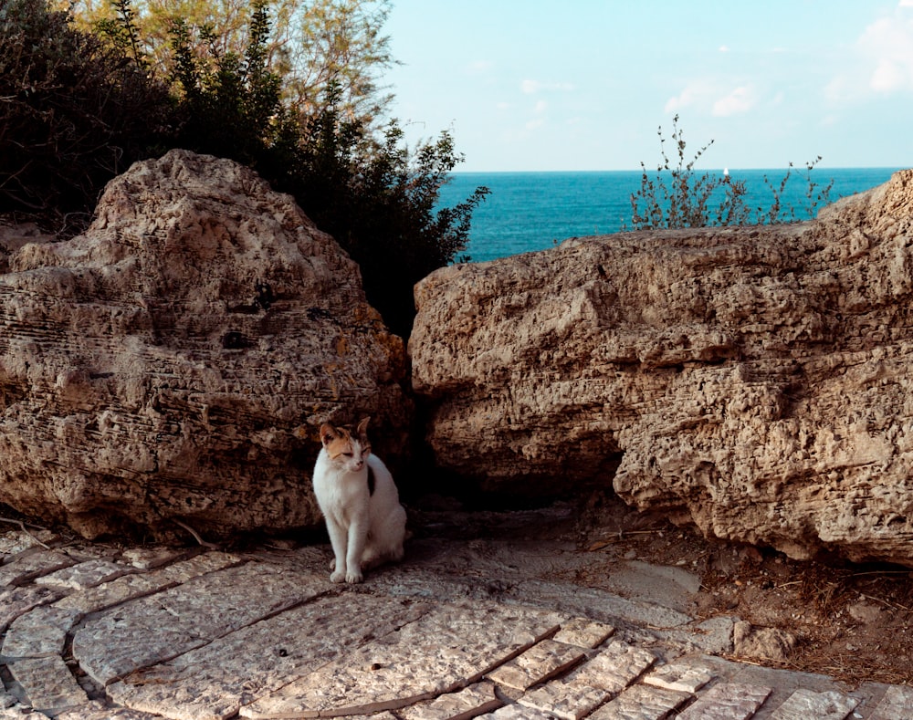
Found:
<svg viewBox="0 0 913 720"><path fill-rule="evenodd" d="M335 556L332 582L361 582L364 570L403 559L405 509L393 475L371 453L368 421L362 420L354 435L331 423L320 426L314 495Z"/></svg>

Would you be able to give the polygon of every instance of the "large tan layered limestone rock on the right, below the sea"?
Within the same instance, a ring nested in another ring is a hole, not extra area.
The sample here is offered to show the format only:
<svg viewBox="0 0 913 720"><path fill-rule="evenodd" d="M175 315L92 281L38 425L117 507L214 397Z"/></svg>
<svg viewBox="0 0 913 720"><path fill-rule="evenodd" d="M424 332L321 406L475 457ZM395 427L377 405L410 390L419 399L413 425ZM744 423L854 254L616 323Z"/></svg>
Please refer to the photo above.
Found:
<svg viewBox="0 0 913 720"><path fill-rule="evenodd" d="M913 171L807 224L572 239L415 297L443 468L913 567Z"/></svg>

